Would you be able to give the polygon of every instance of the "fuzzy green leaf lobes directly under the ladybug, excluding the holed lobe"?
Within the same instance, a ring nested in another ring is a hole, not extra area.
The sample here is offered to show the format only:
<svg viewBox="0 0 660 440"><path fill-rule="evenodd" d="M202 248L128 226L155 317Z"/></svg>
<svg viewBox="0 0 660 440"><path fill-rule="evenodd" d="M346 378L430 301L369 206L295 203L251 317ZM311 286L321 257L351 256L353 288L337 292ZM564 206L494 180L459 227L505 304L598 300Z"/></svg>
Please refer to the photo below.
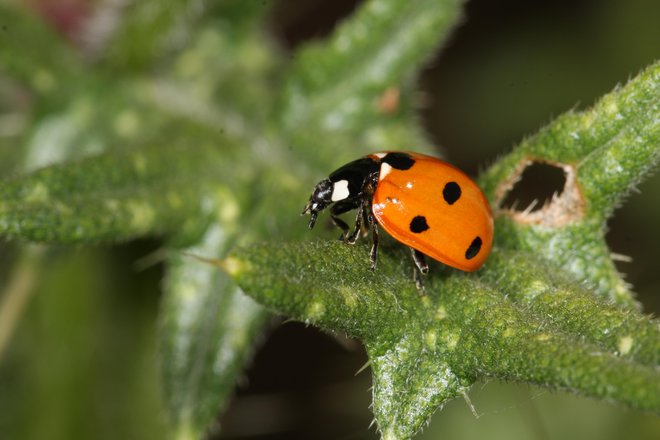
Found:
<svg viewBox="0 0 660 440"><path fill-rule="evenodd" d="M511 251L505 255L526 258ZM265 243L239 248L220 264L274 311L365 343L374 374L374 412L384 438L411 437L438 406L483 377L568 389L660 412L657 321L592 295L593 313L605 314L603 322L612 325L606 330L625 335L631 328L619 323L632 321L633 329L645 333L630 344L650 354L643 359L654 362L649 366L634 357L620 358L629 354L620 352L621 344L613 347L609 337L579 333L566 318L550 315L552 309L542 302L531 309L510 301L499 286L502 268L482 270L481 279L436 274L427 281L428 295L420 296L405 253L382 252L375 272L367 260L364 246ZM558 270L540 263L535 269L537 274ZM528 283L569 290L553 307L583 306L579 285L534 276L521 275Z"/></svg>

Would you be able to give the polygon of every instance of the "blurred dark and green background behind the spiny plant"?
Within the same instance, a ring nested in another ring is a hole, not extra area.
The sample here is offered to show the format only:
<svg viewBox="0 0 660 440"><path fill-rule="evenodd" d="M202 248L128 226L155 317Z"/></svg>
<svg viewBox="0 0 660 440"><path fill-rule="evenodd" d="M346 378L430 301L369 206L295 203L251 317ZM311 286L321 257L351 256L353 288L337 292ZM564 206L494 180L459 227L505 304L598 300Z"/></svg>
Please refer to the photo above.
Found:
<svg viewBox="0 0 660 440"><path fill-rule="evenodd" d="M73 41L95 7L82 0L31 3ZM359 3L279 0L268 31L293 54ZM440 153L476 174L554 116L586 108L660 58L658 23L658 0L471 1L463 24L422 74L422 123ZM543 197L547 188L529 190ZM618 267L644 309L657 313L660 176L639 190L610 221L608 241L613 252L632 257ZM14 246L0 245L3 289L11 288ZM165 436L155 340L163 269L139 264L158 246L141 240L44 250L50 263L24 280L33 290L0 359L0 439ZM267 333L214 438L377 438L368 429L369 372L354 377L366 362L358 343L276 320ZM470 397L478 419L456 400L420 438L660 438L655 415L538 388L488 382Z"/></svg>

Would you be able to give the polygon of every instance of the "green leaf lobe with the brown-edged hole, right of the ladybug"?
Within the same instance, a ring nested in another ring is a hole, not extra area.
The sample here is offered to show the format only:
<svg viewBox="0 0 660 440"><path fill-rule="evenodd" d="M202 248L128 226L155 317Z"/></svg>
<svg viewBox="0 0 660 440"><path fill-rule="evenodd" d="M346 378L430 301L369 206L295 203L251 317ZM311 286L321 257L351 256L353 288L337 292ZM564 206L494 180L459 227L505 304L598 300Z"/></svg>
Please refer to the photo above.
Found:
<svg viewBox="0 0 660 440"><path fill-rule="evenodd" d="M543 209L499 209L497 243L543 255L599 295L634 306L605 243L605 221L660 158L658 95L655 64L593 108L560 116L488 169L480 182L496 207L533 162L566 175L561 195Z"/></svg>

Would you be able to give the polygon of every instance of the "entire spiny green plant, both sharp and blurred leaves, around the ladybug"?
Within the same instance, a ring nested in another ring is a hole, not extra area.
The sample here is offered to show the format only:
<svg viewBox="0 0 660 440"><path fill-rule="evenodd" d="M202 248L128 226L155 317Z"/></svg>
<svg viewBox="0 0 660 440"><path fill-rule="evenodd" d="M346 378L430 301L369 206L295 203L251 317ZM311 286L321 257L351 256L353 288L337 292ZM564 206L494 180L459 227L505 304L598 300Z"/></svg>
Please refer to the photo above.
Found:
<svg viewBox="0 0 660 440"><path fill-rule="evenodd" d="M198 16L185 2L144 4L90 71L29 14L0 6L11 23L3 72L35 98L11 139L26 148L5 157L25 172L0 185L0 232L65 245L163 237L159 337L174 437L202 436L226 404L264 305L365 344L387 439L412 437L481 377L660 410L658 323L638 310L604 241L605 221L659 157L660 65L482 173L497 213L492 256L474 275L434 271L420 297L400 252L382 252L371 273L364 246L301 240L297 213L336 165L383 145L430 151L415 77L461 3L368 1L290 63L263 34L260 2ZM198 29L183 47L163 29L185 14ZM146 37L128 44L136 33ZM401 96L394 112L378 105L388 90ZM58 163L41 168L47 148ZM535 161L565 171L561 196L531 214L500 209ZM19 252L19 275L39 270L43 250Z"/></svg>

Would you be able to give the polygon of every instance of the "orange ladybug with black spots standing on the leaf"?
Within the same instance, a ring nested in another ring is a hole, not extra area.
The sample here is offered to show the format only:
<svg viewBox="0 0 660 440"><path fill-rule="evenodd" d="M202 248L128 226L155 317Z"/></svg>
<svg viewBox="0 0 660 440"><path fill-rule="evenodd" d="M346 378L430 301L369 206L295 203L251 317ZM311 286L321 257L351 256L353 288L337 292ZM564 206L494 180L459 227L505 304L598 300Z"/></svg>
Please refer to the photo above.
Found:
<svg viewBox="0 0 660 440"><path fill-rule="evenodd" d="M316 185L301 214L310 214L310 229L330 205L344 242L354 244L363 229L371 231L372 270L379 225L410 247L419 288L421 274L429 270L425 255L473 272L484 264L493 242L493 217L479 187L458 168L419 153L374 153L332 172ZM351 231L338 216L354 209Z"/></svg>

